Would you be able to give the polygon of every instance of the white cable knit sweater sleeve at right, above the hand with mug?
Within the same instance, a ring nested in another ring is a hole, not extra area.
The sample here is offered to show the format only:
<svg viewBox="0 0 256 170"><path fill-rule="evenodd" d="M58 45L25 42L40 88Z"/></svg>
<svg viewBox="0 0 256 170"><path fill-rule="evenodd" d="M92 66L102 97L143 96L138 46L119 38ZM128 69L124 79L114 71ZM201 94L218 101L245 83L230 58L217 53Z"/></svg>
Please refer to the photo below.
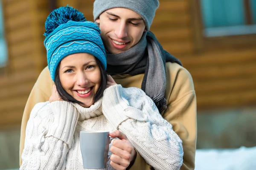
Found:
<svg viewBox="0 0 256 170"><path fill-rule="evenodd" d="M107 88L102 111L111 125L125 133L154 169L180 169L183 162L182 141L141 89L122 88L121 85Z"/></svg>

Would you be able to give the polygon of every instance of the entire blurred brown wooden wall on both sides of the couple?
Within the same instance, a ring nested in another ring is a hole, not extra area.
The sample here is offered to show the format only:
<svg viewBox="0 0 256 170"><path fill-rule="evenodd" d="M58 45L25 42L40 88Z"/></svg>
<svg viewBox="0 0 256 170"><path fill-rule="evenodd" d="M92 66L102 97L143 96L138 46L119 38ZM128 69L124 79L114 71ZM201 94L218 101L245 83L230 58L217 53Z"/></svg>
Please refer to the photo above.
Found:
<svg viewBox="0 0 256 170"><path fill-rule="evenodd" d="M0 75L0 128L20 125L29 92L47 65L49 0L2 0L9 63ZM93 21L94 0L56 0ZM160 0L151 31L192 74L198 110L256 103L256 37L205 38L198 0Z"/></svg>

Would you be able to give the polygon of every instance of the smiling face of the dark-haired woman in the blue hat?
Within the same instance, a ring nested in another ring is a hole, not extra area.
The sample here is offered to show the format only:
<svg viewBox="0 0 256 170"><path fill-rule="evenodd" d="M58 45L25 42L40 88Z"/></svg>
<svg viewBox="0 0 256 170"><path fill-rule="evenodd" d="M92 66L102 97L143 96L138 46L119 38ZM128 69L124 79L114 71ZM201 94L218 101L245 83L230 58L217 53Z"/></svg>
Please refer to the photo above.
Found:
<svg viewBox="0 0 256 170"><path fill-rule="evenodd" d="M101 85L101 72L93 55L87 53L71 54L61 60L61 85L68 94L90 107Z"/></svg>

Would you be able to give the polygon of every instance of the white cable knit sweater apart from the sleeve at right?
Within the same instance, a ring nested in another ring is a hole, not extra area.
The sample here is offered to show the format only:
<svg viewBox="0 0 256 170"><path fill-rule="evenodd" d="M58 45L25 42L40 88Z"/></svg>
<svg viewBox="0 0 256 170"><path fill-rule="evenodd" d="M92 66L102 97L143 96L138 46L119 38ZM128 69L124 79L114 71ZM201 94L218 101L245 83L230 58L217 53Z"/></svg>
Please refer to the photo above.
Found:
<svg viewBox="0 0 256 170"><path fill-rule="evenodd" d="M102 99L90 108L65 101L35 105L26 127L20 170L84 170L80 131L116 130L102 114L101 104ZM107 170L113 170L109 162Z"/></svg>

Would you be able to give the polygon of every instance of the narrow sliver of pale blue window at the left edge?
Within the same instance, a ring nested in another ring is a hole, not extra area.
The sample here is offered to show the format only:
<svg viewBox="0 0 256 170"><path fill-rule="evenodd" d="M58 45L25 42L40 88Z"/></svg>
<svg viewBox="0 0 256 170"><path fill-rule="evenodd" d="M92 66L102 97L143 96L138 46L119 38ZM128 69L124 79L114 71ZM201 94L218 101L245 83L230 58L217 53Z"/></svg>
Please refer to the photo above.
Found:
<svg viewBox="0 0 256 170"><path fill-rule="evenodd" d="M0 0L0 67L6 65L7 46L4 38L2 1Z"/></svg>

